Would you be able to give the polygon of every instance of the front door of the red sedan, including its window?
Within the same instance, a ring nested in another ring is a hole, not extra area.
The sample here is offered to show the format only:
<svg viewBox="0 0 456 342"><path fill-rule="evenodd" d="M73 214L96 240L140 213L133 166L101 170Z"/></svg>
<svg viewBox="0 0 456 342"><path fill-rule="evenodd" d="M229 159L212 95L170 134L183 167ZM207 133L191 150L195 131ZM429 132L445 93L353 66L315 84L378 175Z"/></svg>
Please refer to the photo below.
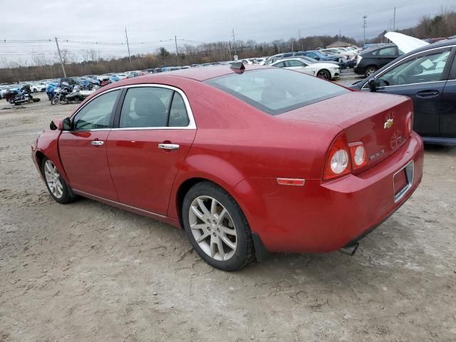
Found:
<svg viewBox="0 0 456 342"><path fill-rule="evenodd" d="M58 151L71 187L117 200L110 177L106 140L120 90L93 98L72 118L72 129L58 138Z"/></svg>

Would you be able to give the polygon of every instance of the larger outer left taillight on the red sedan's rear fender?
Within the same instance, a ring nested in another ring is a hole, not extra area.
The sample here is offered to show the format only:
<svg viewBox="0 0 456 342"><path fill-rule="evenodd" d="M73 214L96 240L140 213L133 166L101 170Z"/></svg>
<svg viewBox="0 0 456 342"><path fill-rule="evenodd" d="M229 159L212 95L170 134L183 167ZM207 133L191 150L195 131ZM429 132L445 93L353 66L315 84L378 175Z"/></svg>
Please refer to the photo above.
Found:
<svg viewBox="0 0 456 342"><path fill-rule="evenodd" d="M333 141L328 152L323 180L332 180L351 172L350 151L345 133L341 133Z"/></svg>

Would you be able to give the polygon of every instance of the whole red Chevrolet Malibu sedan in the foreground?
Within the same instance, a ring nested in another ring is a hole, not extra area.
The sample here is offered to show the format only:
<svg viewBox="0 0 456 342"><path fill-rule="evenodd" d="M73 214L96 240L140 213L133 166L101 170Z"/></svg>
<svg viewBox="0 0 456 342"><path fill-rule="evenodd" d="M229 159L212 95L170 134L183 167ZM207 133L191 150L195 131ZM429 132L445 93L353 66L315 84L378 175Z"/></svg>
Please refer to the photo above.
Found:
<svg viewBox="0 0 456 342"><path fill-rule="evenodd" d="M279 68L216 66L113 83L51 123L33 161L78 195L187 232L234 270L267 252L353 254L415 191L413 105Z"/></svg>

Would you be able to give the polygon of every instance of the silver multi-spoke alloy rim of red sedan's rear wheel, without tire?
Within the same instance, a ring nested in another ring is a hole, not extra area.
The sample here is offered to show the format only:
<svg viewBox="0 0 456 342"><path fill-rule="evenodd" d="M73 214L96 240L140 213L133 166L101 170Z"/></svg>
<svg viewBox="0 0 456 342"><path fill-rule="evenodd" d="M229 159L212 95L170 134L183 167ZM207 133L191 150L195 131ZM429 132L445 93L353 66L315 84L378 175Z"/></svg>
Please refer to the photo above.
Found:
<svg viewBox="0 0 456 342"><path fill-rule="evenodd" d="M237 249L237 232L228 210L210 196L199 196L190 205L192 235L202 251L212 259L226 261Z"/></svg>

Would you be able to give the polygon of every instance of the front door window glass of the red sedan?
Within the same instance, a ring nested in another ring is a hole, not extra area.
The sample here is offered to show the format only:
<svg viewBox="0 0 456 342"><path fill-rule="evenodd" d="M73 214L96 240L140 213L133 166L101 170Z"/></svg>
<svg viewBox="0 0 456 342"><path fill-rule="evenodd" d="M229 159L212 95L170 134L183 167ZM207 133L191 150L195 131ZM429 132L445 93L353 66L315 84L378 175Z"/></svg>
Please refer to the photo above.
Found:
<svg viewBox="0 0 456 342"><path fill-rule="evenodd" d="M87 103L73 119L73 130L109 128L114 105L120 90L109 91Z"/></svg>

